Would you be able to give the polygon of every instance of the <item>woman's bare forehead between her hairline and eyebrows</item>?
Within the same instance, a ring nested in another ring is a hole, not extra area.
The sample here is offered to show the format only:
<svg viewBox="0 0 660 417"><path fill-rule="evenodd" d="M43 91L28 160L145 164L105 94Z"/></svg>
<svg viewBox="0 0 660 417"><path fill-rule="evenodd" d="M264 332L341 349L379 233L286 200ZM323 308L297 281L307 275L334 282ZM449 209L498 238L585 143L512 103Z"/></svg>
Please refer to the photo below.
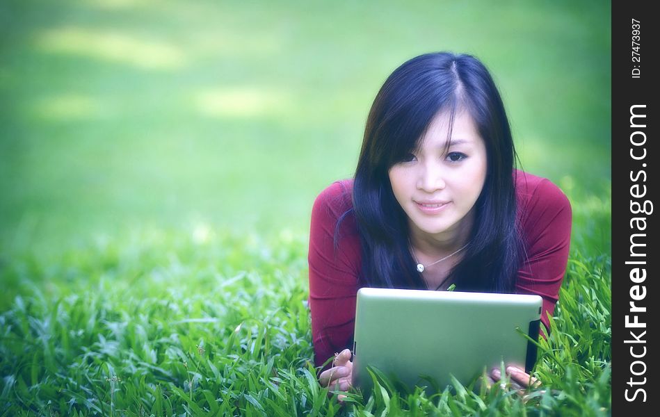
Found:
<svg viewBox="0 0 660 417"><path fill-rule="evenodd" d="M428 128L421 136L420 146L424 145L446 145L449 138L449 117L448 111L437 113L433 120L428 124ZM474 119L467 111L458 111L453 118L451 125L451 143L474 143L483 140L479 135Z"/></svg>

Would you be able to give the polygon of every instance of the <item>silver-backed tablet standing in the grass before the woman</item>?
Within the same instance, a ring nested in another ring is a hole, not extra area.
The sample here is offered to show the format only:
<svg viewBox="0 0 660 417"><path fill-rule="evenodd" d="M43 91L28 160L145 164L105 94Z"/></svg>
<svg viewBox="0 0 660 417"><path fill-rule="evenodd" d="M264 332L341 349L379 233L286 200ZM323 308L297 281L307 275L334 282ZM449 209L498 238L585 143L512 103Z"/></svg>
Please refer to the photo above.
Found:
<svg viewBox="0 0 660 417"><path fill-rule="evenodd" d="M371 391L367 367L412 391L430 377L443 391L451 376L467 385L501 361L531 370L542 300L538 295L360 288L353 339L353 386ZM529 342L529 343L528 343Z"/></svg>

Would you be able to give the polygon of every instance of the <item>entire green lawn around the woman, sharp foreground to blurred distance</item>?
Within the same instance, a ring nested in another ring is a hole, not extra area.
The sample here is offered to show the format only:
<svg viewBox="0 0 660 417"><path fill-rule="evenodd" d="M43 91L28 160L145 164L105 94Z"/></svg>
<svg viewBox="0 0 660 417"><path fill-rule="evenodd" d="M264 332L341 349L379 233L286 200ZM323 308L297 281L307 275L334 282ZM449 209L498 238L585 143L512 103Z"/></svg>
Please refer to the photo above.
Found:
<svg viewBox="0 0 660 417"><path fill-rule="evenodd" d="M610 10L600 2L0 2L0 416L608 415ZM480 57L574 213L526 396L316 384L307 234L385 77ZM402 411L403 410L403 411Z"/></svg>

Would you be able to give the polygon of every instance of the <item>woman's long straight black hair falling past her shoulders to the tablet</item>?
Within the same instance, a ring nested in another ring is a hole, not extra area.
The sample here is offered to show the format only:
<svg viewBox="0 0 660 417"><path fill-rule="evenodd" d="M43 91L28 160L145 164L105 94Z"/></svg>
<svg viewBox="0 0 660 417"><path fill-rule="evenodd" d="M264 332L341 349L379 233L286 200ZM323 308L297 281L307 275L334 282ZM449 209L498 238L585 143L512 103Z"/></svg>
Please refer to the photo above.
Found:
<svg viewBox="0 0 660 417"><path fill-rule="evenodd" d="M486 67L470 55L424 54L397 68L373 101L353 181L366 286L426 288L409 248L405 212L389 168L410 154L433 117L467 111L485 142L487 172L462 260L449 272L458 291L511 293L522 259L516 221L516 154L504 104ZM451 133L450 133L451 136Z"/></svg>

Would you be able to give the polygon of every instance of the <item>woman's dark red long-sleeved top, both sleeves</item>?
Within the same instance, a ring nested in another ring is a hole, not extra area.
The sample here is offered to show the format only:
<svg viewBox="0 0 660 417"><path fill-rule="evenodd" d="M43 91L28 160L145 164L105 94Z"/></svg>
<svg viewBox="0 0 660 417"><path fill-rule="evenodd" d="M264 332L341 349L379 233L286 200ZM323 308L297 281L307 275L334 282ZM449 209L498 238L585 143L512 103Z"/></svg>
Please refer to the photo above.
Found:
<svg viewBox="0 0 660 417"><path fill-rule="evenodd" d="M517 171L518 222L525 247L516 292L543 299L541 320L549 327L568 262L571 207L552 182ZM314 362L321 366L335 352L351 347L355 327L355 301L360 288L362 250L353 211L353 180L335 181L316 197L309 236L309 309L312 313Z"/></svg>

